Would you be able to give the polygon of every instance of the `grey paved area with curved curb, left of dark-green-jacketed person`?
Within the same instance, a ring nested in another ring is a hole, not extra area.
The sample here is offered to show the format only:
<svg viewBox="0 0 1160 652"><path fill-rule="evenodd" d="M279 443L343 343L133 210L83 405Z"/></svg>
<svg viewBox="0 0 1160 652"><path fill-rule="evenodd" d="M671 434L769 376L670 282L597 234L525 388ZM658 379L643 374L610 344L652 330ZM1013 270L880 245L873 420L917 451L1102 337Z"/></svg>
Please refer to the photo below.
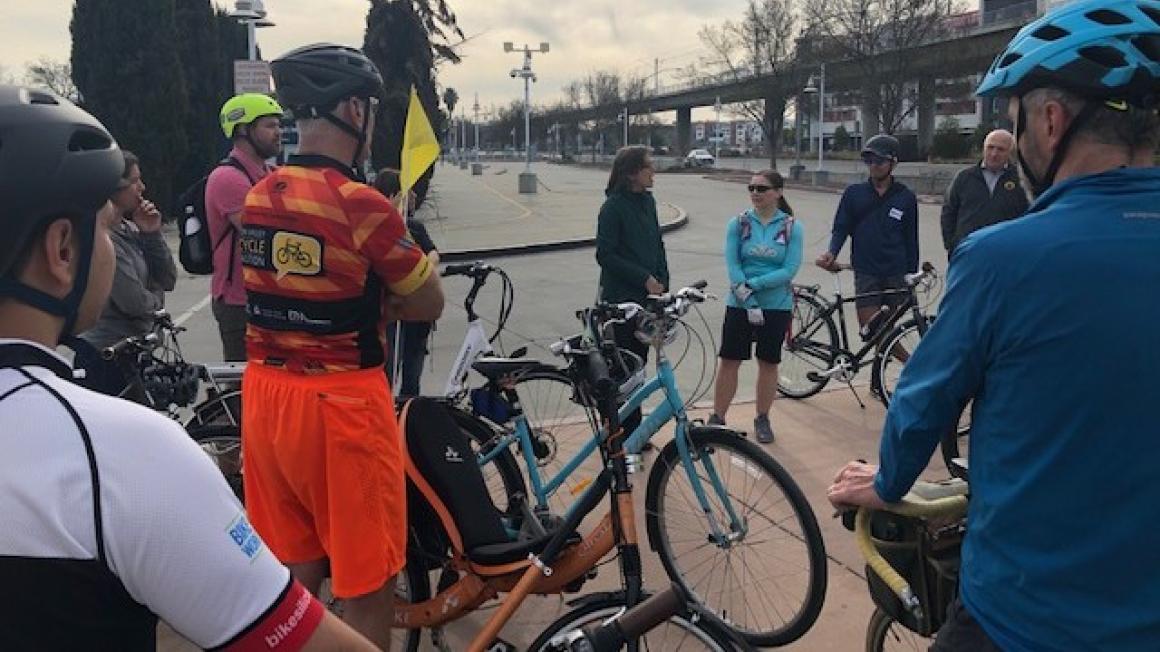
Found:
<svg viewBox="0 0 1160 652"><path fill-rule="evenodd" d="M438 164L436 164L438 165ZM516 182L523 164L485 162L484 174L447 164L436 168L428 195L430 209L420 211L443 260L465 260L512 253L532 253L590 245L596 216L604 202L603 180L577 175L574 168L537 164L539 191L521 195ZM682 226L680 207L657 203L661 229Z"/></svg>

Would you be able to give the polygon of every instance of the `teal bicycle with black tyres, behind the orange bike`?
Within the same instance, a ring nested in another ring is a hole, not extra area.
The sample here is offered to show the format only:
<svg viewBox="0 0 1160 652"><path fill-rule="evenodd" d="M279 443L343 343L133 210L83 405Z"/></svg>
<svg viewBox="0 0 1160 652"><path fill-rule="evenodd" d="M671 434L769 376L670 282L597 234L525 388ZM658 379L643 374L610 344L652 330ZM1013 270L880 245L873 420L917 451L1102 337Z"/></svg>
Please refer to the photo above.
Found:
<svg viewBox="0 0 1160 652"><path fill-rule="evenodd" d="M601 347L623 394L621 419L647 400L660 399L632 433L612 434L625 437L628 465L639 472L645 444L674 423L673 439L660 449L648 473L645 510L650 545L673 581L749 643L784 645L800 638L821 610L825 545L800 488L768 452L744 433L689 420L665 347L688 310L708 298L704 287L701 282L648 297L643 305L599 304L583 310L579 317L585 333L551 349L568 361L558 374L582 378L585 356L573 352ZM606 336L614 324L633 324L637 336L655 350L652 378L644 379L639 357L617 349ZM495 381L499 393L506 397L505 410L512 411L503 415L512 425L508 428L469 432L485 477L499 480L491 487L496 506L506 512L514 530L536 530L549 520L567 517L578 500L560 499L560 488L586 465L602 466L600 442L609 434L600 429L592 406L582 405L582 394L577 392L567 399L587 413L587 419L532 423L523 418L519 379L522 371L543 374L544 365L538 362L481 358L476 369ZM501 378L508 381L502 383ZM538 457L548 452L543 430L560 425L575 428L574 434L567 442L554 441L575 450L545 476ZM553 509L553 499L567 506Z"/></svg>

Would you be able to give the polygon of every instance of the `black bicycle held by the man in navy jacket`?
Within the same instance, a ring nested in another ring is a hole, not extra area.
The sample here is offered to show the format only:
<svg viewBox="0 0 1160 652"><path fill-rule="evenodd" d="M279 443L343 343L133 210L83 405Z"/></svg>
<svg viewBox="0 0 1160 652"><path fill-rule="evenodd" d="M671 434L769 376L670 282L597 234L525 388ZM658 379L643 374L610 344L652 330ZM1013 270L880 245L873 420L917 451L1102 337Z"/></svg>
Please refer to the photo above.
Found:
<svg viewBox="0 0 1160 652"><path fill-rule="evenodd" d="M839 271L847 269L850 267L838 266ZM938 275L933 265L925 262L922 271L906 275L905 288L847 297L842 295L839 271L834 271L833 299L824 297L819 285L793 285L793 311L778 367L777 391L790 398L807 398L838 379L865 407L854 390L854 378L871 364L870 391L889 406L902 365L934 321L919 298L934 290ZM864 297L879 297L891 305L884 305L860 328L863 343L854 352L843 307Z"/></svg>

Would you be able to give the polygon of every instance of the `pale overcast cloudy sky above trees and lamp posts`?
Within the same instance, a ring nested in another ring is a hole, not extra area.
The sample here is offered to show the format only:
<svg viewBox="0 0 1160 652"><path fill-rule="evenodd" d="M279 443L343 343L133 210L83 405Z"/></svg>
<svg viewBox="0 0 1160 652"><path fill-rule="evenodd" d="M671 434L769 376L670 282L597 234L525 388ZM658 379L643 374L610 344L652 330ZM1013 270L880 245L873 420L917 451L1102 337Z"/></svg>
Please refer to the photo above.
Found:
<svg viewBox="0 0 1160 652"><path fill-rule="evenodd" d="M132 1L132 0L109 0ZM180 0L179 0L180 1ZM226 5L225 0L215 0ZM532 68L539 78L532 102L554 100L568 81L595 70L651 74L687 66L704 50L697 39L703 24L719 24L740 15L746 0L450 0L459 26L471 38L461 52L464 61L444 66L438 80L479 103L507 104L522 96L523 85L508 72L522 57L503 52L516 45L551 44ZM67 60L72 0L0 0L0 65L5 74L21 75L27 61L46 56ZM232 6L232 0L229 2ZM318 41L361 45L367 0L266 0L276 27L260 29L263 53L275 57L293 46ZM661 73L661 84L672 73Z"/></svg>

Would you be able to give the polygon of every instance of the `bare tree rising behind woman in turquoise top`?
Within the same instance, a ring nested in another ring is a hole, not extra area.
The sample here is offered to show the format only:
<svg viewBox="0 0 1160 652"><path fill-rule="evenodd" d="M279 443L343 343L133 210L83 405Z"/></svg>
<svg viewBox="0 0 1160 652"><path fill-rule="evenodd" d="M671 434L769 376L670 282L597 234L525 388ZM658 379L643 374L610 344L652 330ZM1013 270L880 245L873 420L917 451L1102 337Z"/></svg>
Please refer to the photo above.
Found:
<svg viewBox="0 0 1160 652"><path fill-rule="evenodd" d="M703 61L739 80L762 75L763 97L740 102L738 110L761 125L770 167L777 167L777 151L785 122L785 104L800 86L788 74L795 61L793 34L798 17L791 0L749 0L745 17L705 26L698 36L711 55Z"/></svg>

